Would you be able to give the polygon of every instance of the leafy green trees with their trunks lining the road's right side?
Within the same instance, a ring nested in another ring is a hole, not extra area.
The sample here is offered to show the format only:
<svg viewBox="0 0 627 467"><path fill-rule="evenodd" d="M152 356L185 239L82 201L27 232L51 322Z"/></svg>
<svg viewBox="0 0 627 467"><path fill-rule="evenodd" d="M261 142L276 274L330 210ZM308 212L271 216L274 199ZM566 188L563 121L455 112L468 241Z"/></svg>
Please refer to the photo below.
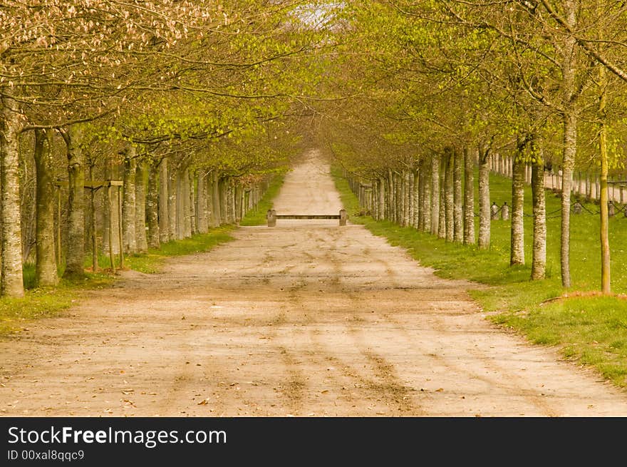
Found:
<svg viewBox="0 0 627 467"><path fill-rule="evenodd" d="M387 188L392 196L394 183L401 185L401 192L405 189L403 177L394 173L430 163L430 215L434 218L437 212L440 217L430 232L449 241L476 241L480 248L489 247L490 159L507 160L512 265L525 262L522 193L525 181L532 183L531 279L546 274L544 168L553 163L561 171L561 281L566 288L571 287L574 173L598 168L601 289L609 293L606 182L608 170L624 166L625 154L615 150L608 157L608 147L620 147L616 130L622 102L613 98L610 108L607 98L620 92L619 81L627 78L626 19L626 6L605 1L351 2L346 8L351 26L342 31L350 46L337 66L342 86L350 89L346 93L358 97L352 108L343 107L344 112L349 108L351 128L333 133L335 152L355 180L368 184L378 178L373 190ZM617 79L608 81L608 74ZM346 121L337 118L329 125L340 128ZM363 131L365 127L373 134ZM610 134L613 141L608 143ZM463 159L466 175L460 183L463 154L472 155L472 165ZM475 185L470 178L475 165L476 240L470 232L475 200L470 191L463 202L460 195L460 186ZM382 176L386 171L388 176ZM379 207L377 215L390 209ZM397 220L394 212L386 218Z"/></svg>

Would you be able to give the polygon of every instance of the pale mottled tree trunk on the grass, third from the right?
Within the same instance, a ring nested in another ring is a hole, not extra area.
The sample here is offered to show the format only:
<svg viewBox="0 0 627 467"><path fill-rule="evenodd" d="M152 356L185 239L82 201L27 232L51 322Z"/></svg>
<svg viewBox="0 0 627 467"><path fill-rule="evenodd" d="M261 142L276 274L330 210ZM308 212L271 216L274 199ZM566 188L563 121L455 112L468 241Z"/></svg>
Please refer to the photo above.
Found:
<svg viewBox="0 0 627 467"><path fill-rule="evenodd" d="M532 280L546 276L546 202L544 189L544 157L537 137L531 141L532 157L532 198L534 210L534 240L532 252Z"/></svg>

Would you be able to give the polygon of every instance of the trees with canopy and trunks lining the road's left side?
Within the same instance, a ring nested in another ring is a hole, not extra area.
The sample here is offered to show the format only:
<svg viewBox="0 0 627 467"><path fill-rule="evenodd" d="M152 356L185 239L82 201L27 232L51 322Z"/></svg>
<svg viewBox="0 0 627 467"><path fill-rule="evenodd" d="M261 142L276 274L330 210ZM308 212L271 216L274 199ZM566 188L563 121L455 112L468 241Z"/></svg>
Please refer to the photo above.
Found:
<svg viewBox="0 0 627 467"><path fill-rule="evenodd" d="M39 285L53 285L58 271L83 274L86 250L96 258L98 245L132 254L149 238L155 246L241 218L296 147L289 120L307 111L298 98L313 79L309 53L327 31L305 26L299 8L265 0L4 2L0 294L24 294L26 260ZM31 165L33 175L20 169ZM121 218L118 188L102 184L112 178L125 181ZM31 179L36 215L21 202ZM30 222L35 240L22 228ZM36 242L34 258L25 241ZM61 250L60 259L53 253Z"/></svg>

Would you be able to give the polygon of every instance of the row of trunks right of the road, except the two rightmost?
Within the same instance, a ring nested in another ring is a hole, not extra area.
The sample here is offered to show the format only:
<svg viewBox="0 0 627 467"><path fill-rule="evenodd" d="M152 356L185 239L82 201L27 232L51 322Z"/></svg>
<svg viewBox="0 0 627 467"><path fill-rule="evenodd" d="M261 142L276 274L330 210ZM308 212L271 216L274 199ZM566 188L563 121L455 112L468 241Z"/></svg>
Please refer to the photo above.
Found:
<svg viewBox="0 0 627 467"><path fill-rule="evenodd" d="M525 160L532 159L531 181L533 192L533 260L532 279L546 274L546 207L544 193L544 161L535 135L526 135L519 146L519 154L512 161L512 217L510 265L524 265L524 184ZM527 151L531 151L530 158ZM478 165L479 232L475 234L475 163ZM491 168L489 148L480 145L477 150L447 147L441 155L433 154L418 161L413 170L393 170L374 180L368 180L373 193L372 215L375 220L390 220L402 226L411 226L421 232L437 235L447 242L477 245L485 250L490 246L490 191ZM345 174L354 193L360 194L363 180ZM358 199L363 204L362 195Z"/></svg>

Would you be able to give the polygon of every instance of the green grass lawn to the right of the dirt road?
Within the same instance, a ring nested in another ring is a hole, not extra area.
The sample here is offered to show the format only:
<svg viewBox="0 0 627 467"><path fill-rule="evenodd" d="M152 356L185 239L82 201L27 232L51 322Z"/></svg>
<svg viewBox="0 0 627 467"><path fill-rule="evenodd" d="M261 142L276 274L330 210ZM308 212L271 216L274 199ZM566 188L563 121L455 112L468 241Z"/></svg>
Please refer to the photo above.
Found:
<svg viewBox="0 0 627 467"><path fill-rule="evenodd" d="M532 217L525 217L527 264L510 267L509 220L492 221L489 250L445 242L410 227L360 216L347 181L339 170L332 174L351 222L365 225L391 245L405 247L421 265L433 267L440 277L468 279L489 286L471 294L484 311L492 312L489 319L494 323L514 329L535 344L559 347L566 358L594 366L603 378L627 388L627 299L595 294L601 284L598 215L585 210L584 214L571 215L572 287L566 291L561 287L559 263L561 220L556 211L560 200L551 191L546 192L547 277L531 281ZM511 204L511 180L491 175L490 193L491 202ZM531 189L527 187L526 214L532 212L531 201ZM598 212L598 205L584 205ZM610 220L610 243L613 292L626 294L627 274L623 271L627 267L627 218L621 213Z"/></svg>

